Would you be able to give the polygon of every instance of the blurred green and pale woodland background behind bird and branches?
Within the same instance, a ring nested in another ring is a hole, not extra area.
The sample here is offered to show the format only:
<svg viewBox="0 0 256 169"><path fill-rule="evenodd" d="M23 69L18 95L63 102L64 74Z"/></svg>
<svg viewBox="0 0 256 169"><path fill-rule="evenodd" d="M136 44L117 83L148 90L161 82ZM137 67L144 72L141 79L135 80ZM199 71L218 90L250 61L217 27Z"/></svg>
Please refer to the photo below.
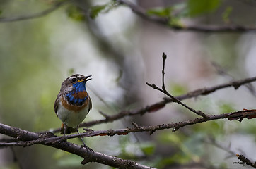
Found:
<svg viewBox="0 0 256 169"><path fill-rule="evenodd" d="M130 8L118 6L115 1L68 1L42 17L3 21L3 18L40 13L59 2L0 1L1 123L32 132L60 127L61 121L53 109L54 100L63 80L74 73L93 77L87 84L93 110L86 121L102 119L98 111L113 115L161 101L163 94L145 82L161 87L163 52L168 56L165 85L175 96L256 74L255 32L173 31L168 26L139 18ZM174 24L255 25L256 1L139 0L132 3L158 15L163 8L170 8L168 15L172 15ZM197 10L192 11L194 8ZM209 114L255 108L255 92L251 87L252 90L222 89L185 103ZM179 105L168 104L155 113L91 128L124 128L131 126L132 121L139 125L158 125L195 117ZM138 133L92 137L86 143L95 151L156 168L247 168L233 164L238 160L226 150L255 159L255 128L253 119L242 123L216 120L184 127L175 133L163 130L151 136ZM81 144L76 139L71 142ZM223 148L218 148L216 143ZM80 157L41 145L0 149L0 156L0 168L110 168L97 163L83 166Z"/></svg>

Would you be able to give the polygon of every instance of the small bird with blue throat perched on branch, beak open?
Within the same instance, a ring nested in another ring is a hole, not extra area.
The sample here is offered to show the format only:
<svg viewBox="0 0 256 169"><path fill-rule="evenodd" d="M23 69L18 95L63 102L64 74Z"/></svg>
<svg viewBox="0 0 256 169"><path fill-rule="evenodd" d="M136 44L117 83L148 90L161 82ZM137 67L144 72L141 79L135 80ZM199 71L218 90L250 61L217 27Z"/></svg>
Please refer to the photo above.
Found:
<svg viewBox="0 0 256 169"><path fill-rule="evenodd" d="M62 87L54 103L54 111L62 120L61 134L64 136L71 132L78 132L79 125L92 108L91 98L86 91L86 82L91 80L89 77L91 75L76 74L67 77L62 82ZM83 145L86 146L84 142Z"/></svg>

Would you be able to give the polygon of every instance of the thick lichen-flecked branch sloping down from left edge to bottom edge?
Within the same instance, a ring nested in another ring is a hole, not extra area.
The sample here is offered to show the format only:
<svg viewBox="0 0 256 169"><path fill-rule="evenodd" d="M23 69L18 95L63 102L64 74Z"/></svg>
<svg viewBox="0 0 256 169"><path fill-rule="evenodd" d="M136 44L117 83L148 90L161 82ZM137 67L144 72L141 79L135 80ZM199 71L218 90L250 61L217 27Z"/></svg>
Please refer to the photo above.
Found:
<svg viewBox="0 0 256 169"><path fill-rule="evenodd" d="M0 123L0 133L7 135L9 137L14 137L19 141L36 141L37 139L49 139L54 138L52 134L38 134L35 132L29 132L27 130L21 130L16 127L11 127L8 125L4 125ZM108 156L106 154L101 154L96 151L90 151L84 147L78 146L77 144L72 144L70 142L38 142L38 144L42 144L45 146L52 146L57 149L61 149L63 151L67 151L71 154L76 154L77 156L81 156L84 160L81 162L82 164L86 164L89 162L97 162L105 165L112 166L114 168L141 168L141 169L149 169L151 167L147 167L145 165L140 165L135 163L134 161L124 160L121 158L117 158L114 156ZM3 145L3 144L2 144Z"/></svg>

